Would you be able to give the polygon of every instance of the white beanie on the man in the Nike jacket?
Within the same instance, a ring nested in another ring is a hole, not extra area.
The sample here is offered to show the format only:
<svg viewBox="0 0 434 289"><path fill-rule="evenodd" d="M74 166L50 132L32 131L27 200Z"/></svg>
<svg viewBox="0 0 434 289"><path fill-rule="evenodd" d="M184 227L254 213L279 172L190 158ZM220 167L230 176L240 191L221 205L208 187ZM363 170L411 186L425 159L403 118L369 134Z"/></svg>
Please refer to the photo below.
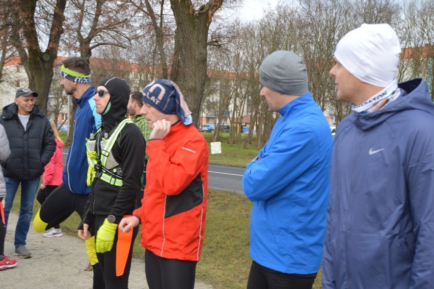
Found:
<svg viewBox="0 0 434 289"><path fill-rule="evenodd" d="M359 80L388 86L395 77L401 46L389 24L362 24L338 42L335 59Z"/></svg>

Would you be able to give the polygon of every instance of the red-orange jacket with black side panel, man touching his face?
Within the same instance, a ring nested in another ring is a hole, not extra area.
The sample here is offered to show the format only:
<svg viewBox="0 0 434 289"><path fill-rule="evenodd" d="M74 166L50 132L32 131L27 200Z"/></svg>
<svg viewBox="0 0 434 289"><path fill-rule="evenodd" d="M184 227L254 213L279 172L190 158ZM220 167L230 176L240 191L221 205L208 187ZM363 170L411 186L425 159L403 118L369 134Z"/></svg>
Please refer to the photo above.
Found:
<svg viewBox="0 0 434 289"><path fill-rule="evenodd" d="M149 140L142 206L142 245L154 254L198 261L203 246L208 146L193 125L178 121L163 140Z"/></svg>

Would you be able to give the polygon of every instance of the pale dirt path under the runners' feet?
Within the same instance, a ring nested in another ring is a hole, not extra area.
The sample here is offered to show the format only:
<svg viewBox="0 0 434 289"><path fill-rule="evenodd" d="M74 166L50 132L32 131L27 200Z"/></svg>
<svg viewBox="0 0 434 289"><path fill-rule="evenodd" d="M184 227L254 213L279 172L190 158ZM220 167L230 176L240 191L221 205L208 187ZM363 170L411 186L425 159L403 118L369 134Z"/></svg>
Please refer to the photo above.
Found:
<svg viewBox="0 0 434 289"><path fill-rule="evenodd" d="M84 241L71 235L46 238L37 233L31 224L27 245L32 252L29 259L14 255L14 234L17 214L11 213L6 234L5 254L15 258L15 268L0 272L4 289L57 289L92 288L92 272L84 269L89 263ZM147 289L144 260L133 259L129 275L130 289ZM212 289L212 286L196 280L195 289Z"/></svg>

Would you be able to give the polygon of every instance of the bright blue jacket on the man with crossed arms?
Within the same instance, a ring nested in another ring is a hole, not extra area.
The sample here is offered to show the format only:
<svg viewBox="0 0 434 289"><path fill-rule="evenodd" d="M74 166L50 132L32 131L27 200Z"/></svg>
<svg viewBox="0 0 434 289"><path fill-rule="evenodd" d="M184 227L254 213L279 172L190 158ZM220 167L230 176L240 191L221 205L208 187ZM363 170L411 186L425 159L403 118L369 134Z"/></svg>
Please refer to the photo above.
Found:
<svg viewBox="0 0 434 289"><path fill-rule="evenodd" d="M250 255L289 274L318 272L324 245L333 138L308 92L289 102L242 176L253 201Z"/></svg>

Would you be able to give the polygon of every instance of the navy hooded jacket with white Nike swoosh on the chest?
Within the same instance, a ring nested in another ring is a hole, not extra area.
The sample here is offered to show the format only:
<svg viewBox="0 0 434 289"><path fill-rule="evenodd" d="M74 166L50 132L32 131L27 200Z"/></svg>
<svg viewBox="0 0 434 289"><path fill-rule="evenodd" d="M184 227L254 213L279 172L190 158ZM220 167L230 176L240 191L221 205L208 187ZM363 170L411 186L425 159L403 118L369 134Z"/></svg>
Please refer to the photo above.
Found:
<svg viewBox="0 0 434 289"><path fill-rule="evenodd" d="M434 105L421 78L399 88L338 126L323 288L434 288Z"/></svg>

